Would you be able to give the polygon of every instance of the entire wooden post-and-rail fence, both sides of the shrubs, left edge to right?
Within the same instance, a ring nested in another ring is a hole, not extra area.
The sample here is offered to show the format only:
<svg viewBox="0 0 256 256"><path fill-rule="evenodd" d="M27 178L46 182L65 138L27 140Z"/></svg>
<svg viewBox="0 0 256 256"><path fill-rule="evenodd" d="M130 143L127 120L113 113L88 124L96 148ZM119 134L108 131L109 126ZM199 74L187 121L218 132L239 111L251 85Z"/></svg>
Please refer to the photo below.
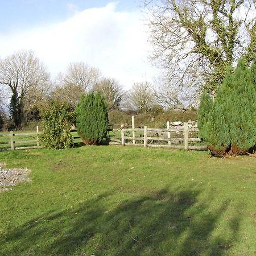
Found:
<svg viewBox="0 0 256 256"><path fill-rule="evenodd" d="M121 126L122 127L122 126ZM109 127L106 136L106 143L113 145L129 145L129 146L144 146L154 148L176 148L184 150L207 150L206 146L201 144L200 138L197 137L199 129L191 127L188 123L179 127L172 126L167 122L167 128L135 128L134 118L132 128L113 129L113 125ZM110 132L110 133L109 133ZM75 144L81 143L80 137L77 135L76 129L71 129ZM2 150L25 150L32 148L43 148L39 141L39 127L36 127L36 132L14 132L0 134L8 139L1 139L0 151Z"/></svg>

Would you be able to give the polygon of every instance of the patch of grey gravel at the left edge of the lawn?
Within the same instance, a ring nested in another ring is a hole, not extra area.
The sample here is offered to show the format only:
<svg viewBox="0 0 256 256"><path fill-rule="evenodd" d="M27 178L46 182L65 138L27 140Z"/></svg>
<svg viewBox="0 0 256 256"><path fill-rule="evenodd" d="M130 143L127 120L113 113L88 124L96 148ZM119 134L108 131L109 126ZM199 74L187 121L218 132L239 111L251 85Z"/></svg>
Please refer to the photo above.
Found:
<svg viewBox="0 0 256 256"><path fill-rule="evenodd" d="M28 169L8 169L0 165L0 192L11 190L22 181L30 181L29 173Z"/></svg>

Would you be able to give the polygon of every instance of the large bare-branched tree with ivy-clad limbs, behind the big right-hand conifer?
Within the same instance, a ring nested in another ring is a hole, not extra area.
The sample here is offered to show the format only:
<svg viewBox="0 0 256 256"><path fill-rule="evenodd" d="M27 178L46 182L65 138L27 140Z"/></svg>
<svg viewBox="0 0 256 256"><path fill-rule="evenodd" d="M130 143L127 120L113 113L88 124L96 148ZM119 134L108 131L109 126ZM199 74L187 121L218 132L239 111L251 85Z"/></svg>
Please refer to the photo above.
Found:
<svg viewBox="0 0 256 256"><path fill-rule="evenodd" d="M256 59L253 0L146 3L151 6L152 59L167 69L171 86L193 88L197 95L203 86L215 94L229 65L241 56Z"/></svg>

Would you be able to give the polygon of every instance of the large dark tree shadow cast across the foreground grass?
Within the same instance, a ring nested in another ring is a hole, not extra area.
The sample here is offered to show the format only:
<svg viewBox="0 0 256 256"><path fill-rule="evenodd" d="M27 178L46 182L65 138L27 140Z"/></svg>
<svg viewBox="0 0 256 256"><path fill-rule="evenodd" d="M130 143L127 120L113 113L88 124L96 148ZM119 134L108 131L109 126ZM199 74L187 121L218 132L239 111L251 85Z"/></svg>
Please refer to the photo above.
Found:
<svg viewBox="0 0 256 256"><path fill-rule="evenodd" d="M236 242L240 218L214 234L228 201L209 210L199 191L163 189L107 204L100 195L63 212L48 212L2 236L1 255L221 255ZM110 208L110 209L109 209Z"/></svg>

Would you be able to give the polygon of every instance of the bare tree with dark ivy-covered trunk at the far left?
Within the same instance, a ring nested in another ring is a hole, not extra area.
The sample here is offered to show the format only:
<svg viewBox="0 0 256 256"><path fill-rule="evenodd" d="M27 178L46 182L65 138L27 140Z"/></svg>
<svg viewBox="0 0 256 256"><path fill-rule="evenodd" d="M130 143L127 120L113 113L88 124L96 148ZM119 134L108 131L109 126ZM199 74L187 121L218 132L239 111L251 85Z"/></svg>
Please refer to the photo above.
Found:
<svg viewBox="0 0 256 256"><path fill-rule="evenodd" d="M15 126L49 90L49 73L33 51L19 51L0 61L0 84L10 97Z"/></svg>

